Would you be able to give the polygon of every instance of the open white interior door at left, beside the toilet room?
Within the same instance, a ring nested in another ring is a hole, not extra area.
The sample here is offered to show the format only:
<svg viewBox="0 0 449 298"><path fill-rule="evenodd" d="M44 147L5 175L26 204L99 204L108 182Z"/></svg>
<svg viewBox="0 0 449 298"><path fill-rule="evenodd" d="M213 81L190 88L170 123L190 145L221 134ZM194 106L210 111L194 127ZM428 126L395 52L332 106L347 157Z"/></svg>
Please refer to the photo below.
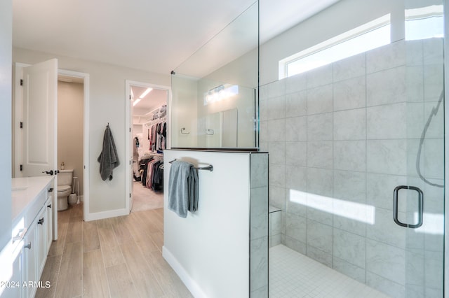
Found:
<svg viewBox="0 0 449 298"><path fill-rule="evenodd" d="M23 69L22 176L56 175L58 169L58 59ZM55 176L54 194L57 190ZM58 196L53 196L53 239L58 237Z"/></svg>

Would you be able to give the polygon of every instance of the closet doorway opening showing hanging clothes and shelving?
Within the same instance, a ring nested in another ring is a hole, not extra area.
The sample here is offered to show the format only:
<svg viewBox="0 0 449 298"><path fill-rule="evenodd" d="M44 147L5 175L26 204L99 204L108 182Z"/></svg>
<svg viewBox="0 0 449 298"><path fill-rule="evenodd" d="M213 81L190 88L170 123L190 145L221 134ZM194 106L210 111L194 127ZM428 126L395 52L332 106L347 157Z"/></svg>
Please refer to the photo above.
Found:
<svg viewBox="0 0 449 298"><path fill-rule="evenodd" d="M163 207L163 150L167 147L169 87L126 82L129 99L130 212Z"/></svg>

